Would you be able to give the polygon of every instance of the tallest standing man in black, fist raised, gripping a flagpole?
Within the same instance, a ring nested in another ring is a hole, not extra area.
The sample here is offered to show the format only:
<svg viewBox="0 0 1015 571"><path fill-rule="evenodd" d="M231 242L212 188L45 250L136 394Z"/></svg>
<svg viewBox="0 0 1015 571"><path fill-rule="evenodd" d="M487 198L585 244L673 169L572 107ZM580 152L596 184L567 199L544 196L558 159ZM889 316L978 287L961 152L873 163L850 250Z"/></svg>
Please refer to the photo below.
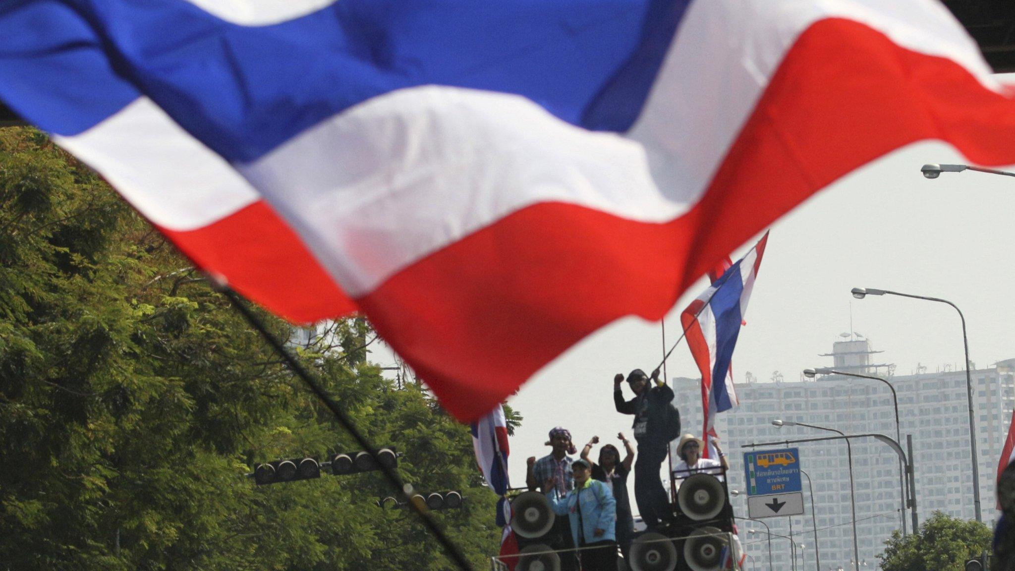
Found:
<svg viewBox="0 0 1015 571"><path fill-rule="evenodd" d="M660 469L669 451L670 440L680 434L680 415L670 402L673 389L666 381L659 380L659 371L654 371L652 379L656 386L649 386L649 376L640 369L627 375L627 384L634 392L634 398L624 400L620 383L624 376L613 377L613 401L617 413L634 415L634 440L637 441L637 456L634 460L634 502L641 519L649 528L660 520L672 519L669 496L663 488Z"/></svg>

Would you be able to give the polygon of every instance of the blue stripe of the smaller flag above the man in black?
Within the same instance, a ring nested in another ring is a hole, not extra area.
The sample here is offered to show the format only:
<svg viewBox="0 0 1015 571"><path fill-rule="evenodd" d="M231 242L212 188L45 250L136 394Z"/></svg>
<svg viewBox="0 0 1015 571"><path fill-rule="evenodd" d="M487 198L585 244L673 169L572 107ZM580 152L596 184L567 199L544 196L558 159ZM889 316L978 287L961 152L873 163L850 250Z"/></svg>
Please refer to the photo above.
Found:
<svg viewBox="0 0 1015 571"><path fill-rule="evenodd" d="M726 390L726 375L730 370L733 350L737 345L740 325L743 322L740 296L744 292L744 282L740 273L740 262L741 260L738 260L726 271L726 279L708 303L716 319L716 365L712 370L712 391L718 413L733 407L730 394Z"/></svg>

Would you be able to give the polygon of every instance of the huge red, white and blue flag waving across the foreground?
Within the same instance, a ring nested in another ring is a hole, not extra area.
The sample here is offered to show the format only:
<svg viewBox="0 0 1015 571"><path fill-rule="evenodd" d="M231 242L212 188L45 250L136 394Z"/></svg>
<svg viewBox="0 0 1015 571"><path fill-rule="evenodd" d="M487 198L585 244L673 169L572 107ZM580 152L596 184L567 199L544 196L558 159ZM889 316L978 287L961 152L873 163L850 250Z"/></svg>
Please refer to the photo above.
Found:
<svg viewBox="0 0 1015 571"><path fill-rule="evenodd" d="M937 0L10 0L0 100L292 321L475 420L885 153L1015 163Z"/></svg>

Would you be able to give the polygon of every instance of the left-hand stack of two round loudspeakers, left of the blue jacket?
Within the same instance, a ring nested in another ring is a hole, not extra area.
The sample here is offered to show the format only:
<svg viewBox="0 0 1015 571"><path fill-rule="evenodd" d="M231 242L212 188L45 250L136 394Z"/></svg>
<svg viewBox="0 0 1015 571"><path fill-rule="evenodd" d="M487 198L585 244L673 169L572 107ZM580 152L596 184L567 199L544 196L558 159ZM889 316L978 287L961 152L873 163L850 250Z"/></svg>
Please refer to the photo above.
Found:
<svg viewBox="0 0 1015 571"><path fill-rule="evenodd" d="M560 571L563 549L550 531L556 514L550 501L539 492L524 492L511 501L511 527L518 538L518 563L515 571Z"/></svg>

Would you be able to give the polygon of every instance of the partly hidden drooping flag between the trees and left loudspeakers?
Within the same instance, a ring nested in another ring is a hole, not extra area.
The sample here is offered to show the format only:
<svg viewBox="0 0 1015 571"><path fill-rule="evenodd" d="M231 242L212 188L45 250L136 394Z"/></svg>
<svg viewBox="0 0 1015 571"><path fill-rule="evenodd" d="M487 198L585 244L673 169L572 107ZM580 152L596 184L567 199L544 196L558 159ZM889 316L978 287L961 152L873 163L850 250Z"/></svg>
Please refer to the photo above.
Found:
<svg viewBox="0 0 1015 571"><path fill-rule="evenodd" d="M511 483L507 479L507 455L511 448L507 445L507 421L503 406L497 406L485 417L472 423L472 448L476 452L476 461L483 479L493 492L500 496L497 502L496 524L503 527L500 537L500 555L518 553L518 540L511 528L511 502L505 495ZM517 563L516 558L509 558L505 563L512 569Z"/></svg>

